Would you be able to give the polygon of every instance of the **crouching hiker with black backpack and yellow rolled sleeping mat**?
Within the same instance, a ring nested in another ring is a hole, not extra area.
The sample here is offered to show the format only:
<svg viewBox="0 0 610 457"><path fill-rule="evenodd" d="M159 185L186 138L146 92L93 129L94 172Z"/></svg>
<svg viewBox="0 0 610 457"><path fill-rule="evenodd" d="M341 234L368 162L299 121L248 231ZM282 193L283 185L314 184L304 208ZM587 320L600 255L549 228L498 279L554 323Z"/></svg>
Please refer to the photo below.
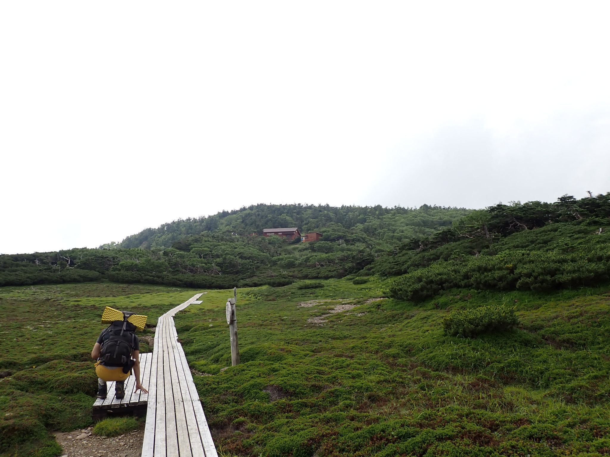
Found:
<svg viewBox="0 0 610 457"><path fill-rule="evenodd" d="M116 381L115 397L125 396L125 380L134 370L135 391L148 393L140 383L140 340L135 330L143 330L146 316L118 311L106 307L102 315L102 323L111 322L106 330L99 335L91 351L91 358L97 359L95 372L98 375L98 398L105 399L107 381Z"/></svg>

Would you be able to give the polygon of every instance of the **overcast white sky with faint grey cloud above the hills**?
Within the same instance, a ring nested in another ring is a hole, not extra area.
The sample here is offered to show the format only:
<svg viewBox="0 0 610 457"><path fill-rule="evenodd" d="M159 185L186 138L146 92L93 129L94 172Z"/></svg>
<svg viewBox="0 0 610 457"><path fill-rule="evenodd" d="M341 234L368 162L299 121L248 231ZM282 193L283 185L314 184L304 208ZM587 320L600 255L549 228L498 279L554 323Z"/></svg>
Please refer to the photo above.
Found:
<svg viewBox="0 0 610 457"><path fill-rule="evenodd" d="M0 252L610 191L608 2L0 4Z"/></svg>

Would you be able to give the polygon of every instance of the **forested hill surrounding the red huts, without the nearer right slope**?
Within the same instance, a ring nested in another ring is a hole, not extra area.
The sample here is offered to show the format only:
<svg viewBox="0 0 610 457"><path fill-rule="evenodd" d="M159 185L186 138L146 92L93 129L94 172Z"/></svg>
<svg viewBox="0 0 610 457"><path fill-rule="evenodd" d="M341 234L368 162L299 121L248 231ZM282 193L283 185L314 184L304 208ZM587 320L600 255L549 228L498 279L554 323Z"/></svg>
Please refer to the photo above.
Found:
<svg viewBox="0 0 610 457"><path fill-rule="evenodd" d="M87 281L204 288L343 277L417 236L451 227L465 208L254 205L148 228L99 249L0 256L0 285ZM323 239L296 243L257 234L298 227ZM253 235L254 234L254 235Z"/></svg>

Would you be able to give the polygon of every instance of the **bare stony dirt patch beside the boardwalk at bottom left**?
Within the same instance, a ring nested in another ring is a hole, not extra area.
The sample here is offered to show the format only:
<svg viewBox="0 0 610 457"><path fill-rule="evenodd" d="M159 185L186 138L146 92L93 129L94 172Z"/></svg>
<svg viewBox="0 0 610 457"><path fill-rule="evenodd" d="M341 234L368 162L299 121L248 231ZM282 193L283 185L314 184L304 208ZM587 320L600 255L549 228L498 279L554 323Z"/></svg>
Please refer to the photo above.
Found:
<svg viewBox="0 0 610 457"><path fill-rule="evenodd" d="M63 447L62 457L140 457L144 431L137 430L115 438L95 436L91 427L68 433L56 433Z"/></svg>

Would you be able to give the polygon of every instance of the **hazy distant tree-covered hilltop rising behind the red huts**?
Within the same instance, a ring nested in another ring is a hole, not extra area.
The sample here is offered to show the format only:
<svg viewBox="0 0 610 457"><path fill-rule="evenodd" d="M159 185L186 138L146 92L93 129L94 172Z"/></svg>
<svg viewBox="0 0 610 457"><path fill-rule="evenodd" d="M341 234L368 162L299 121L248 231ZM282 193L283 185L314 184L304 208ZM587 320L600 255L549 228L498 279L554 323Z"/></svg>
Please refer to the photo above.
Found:
<svg viewBox="0 0 610 457"><path fill-rule="evenodd" d="M348 230L381 242L384 247L402 243L418 235L431 235L451 227L456 219L470 213L465 208L446 208L422 205L420 208L384 208L330 205L266 205L258 204L234 211L221 211L213 216L178 219L157 228L146 228L127 236L117 245L123 249L159 249L170 247L188 235L240 236L257 233L264 228L298 227L301 233L328 230Z"/></svg>

